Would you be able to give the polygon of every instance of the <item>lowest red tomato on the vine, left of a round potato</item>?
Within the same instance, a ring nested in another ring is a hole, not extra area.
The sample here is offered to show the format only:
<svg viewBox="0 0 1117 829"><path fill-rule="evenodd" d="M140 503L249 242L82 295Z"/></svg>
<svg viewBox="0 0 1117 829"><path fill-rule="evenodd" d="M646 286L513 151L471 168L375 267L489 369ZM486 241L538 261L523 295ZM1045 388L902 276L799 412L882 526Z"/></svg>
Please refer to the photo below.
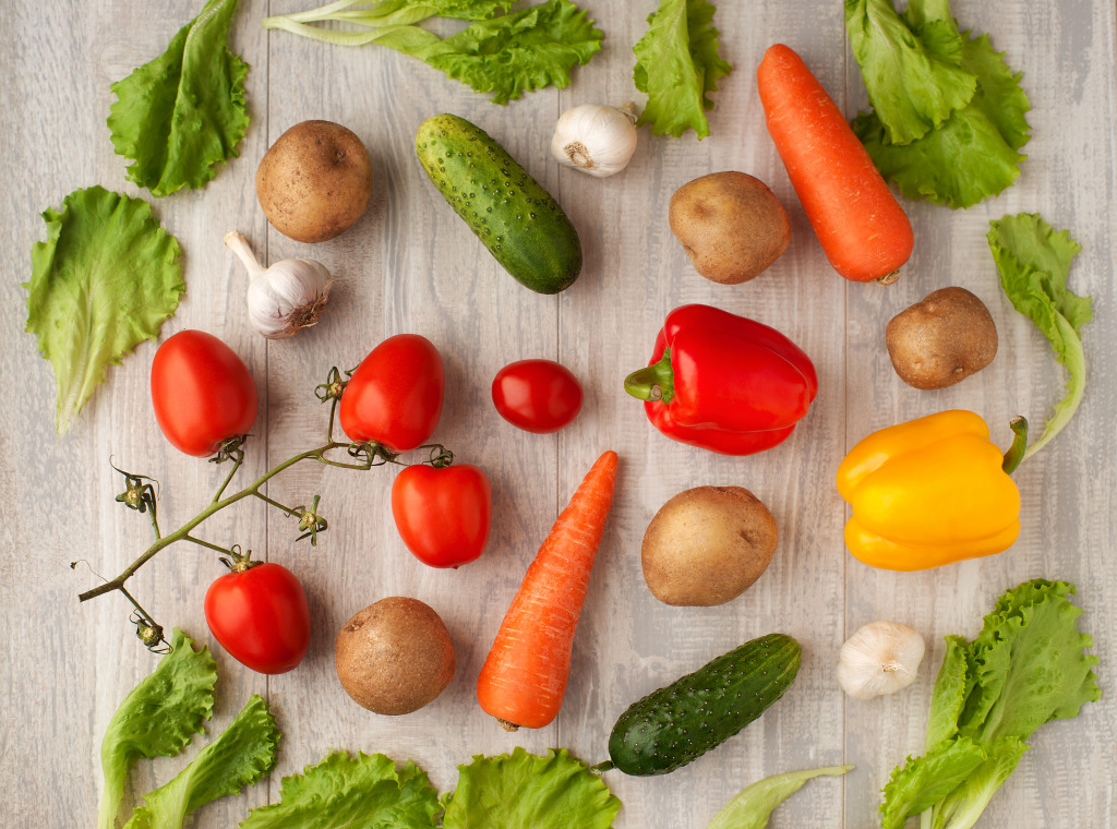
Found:
<svg viewBox="0 0 1117 829"><path fill-rule="evenodd" d="M260 674L285 674L311 645L306 591L280 564L230 571L210 584L206 621L222 648Z"/></svg>

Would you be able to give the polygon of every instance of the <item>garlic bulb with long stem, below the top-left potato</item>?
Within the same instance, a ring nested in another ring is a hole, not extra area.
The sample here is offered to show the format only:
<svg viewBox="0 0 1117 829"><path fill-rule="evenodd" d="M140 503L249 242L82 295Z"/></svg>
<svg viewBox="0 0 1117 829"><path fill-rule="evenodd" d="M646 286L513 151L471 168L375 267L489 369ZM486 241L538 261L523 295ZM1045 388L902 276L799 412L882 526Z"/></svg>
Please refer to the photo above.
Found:
<svg viewBox="0 0 1117 829"><path fill-rule="evenodd" d="M238 231L230 230L225 244L245 263L248 284L248 321L270 340L281 340L318 322L330 299L333 278L325 265L313 259L283 259L264 268Z"/></svg>

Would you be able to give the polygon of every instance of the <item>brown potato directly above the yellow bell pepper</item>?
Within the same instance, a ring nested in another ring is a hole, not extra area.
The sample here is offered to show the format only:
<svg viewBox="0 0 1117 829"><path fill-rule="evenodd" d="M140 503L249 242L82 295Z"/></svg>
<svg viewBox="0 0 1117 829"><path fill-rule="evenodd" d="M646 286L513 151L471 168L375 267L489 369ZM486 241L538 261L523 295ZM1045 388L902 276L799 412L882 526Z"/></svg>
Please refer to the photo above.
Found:
<svg viewBox="0 0 1117 829"><path fill-rule="evenodd" d="M941 288L888 322L885 344L892 368L916 389L945 389L996 356L996 325L965 288Z"/></svg>

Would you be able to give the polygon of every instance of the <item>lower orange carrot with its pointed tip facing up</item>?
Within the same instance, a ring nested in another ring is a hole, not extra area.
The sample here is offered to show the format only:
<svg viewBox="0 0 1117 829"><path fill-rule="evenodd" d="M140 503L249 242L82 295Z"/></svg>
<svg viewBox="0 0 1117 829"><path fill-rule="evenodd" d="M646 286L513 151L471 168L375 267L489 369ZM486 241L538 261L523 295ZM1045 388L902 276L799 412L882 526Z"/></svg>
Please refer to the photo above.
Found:
<svg viewBox="0 0 1117 829"><path fill-rule="evenodd" d="M574 629L617 479L607 451L562 511L505 613L477 678L477 699L508 731L542 728L558 714Z"/></svg>

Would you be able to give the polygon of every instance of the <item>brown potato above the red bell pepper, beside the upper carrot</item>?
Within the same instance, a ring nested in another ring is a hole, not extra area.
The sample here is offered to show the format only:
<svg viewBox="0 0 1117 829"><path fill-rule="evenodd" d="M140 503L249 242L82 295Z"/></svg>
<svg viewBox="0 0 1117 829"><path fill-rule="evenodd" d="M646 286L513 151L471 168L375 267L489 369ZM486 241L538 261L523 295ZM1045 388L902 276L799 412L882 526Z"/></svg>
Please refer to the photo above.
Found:
<svg viewBox="0 0 1117 829"><path fill-rule="evenodd" d="M684 184L667 218L695 270L723 285L757 276L791 241L783 204L747 173L710 173Z"/></svg>

